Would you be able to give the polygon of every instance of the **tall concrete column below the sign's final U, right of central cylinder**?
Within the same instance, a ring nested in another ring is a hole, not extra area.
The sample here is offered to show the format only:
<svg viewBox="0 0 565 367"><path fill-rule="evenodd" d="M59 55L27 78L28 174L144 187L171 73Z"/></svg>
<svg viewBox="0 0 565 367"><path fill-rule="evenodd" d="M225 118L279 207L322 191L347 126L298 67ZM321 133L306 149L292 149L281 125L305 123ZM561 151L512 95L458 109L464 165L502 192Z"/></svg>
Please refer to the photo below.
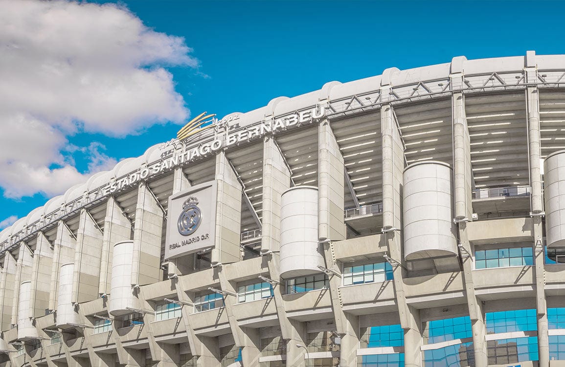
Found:
<svg viewBox="0 0 565 367"><path fill-rule="evenodd" d="M345 240L344 157L328 120L320 123L318 140L318 236Z"/></svg>

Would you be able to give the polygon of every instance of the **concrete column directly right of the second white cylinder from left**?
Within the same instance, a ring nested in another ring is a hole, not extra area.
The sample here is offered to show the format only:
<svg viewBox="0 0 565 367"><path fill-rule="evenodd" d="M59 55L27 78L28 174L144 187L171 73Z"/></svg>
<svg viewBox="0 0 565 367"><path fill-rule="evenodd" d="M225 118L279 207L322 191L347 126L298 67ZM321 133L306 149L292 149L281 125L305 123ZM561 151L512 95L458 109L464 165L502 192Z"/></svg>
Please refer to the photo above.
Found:
<svg viewBox="0 0 565 367"><path fill-rule="evenodd" d="M72 302L95 300L100 284L102 232L86 209L80 211L73 270Z"/></svg>

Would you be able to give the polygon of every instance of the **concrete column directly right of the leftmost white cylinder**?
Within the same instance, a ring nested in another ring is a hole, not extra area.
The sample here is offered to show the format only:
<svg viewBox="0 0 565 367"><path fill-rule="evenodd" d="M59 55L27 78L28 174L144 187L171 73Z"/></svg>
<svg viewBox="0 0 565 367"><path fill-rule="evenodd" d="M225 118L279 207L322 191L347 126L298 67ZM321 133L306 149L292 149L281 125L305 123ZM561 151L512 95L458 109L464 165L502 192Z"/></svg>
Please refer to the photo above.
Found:
<svg viewBox="0 0 565 367"><path fill-rule="evenodd" d="M49 280L53 267L53 248L43 234L38 232L36 249L33 256L32 287L29 299L29 314L32 317L45 315L49 308Z"/></svg>

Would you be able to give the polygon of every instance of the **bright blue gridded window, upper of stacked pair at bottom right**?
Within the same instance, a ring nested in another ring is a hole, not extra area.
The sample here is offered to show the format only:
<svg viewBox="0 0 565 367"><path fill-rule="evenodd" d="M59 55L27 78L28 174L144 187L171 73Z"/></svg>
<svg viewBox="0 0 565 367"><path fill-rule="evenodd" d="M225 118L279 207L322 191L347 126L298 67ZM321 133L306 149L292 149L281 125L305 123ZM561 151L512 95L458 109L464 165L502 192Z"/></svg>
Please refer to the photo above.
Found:
<svg viewBox="0 0 565 367"><path fill-rule="evenodd" d="M537 330L535 309L487 312L485 318L488 334Z"/></svg>

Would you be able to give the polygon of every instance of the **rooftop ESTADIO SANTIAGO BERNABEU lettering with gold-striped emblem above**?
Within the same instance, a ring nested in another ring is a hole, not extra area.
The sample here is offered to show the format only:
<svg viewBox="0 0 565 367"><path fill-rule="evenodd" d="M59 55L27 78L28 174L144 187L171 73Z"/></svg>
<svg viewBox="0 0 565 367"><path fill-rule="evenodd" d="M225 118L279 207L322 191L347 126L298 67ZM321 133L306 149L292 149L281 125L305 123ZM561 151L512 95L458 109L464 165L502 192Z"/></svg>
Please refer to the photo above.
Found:
<svg viewBox="0 0 565 367"><path fill-rule="evenodd" d="M169 142L169 145L174 145L175 148L180 146L181 149L173 149L169 157L167 157L167 153L163 153L163 158L160 161L151 163L146 167L140 167L137 171L108 183L103 188L104 194L110 195L119 192L137 184L141 180L149 178L149 176L158 175L177 166L184 166L186 163L198 161L211 154L216 154L221 149L238 145L244 141L260 139L268 133L276 135L287 129L314 123L325 116L326 109L325 105L316 105L310 109L297 111L271 121L263 121L243 128L240 128L238 123L229 125L229 123L237 121L238 115L231 115L228 118L218 120L214 118L215 115L202 113L179 130L177 139ZM203 126L207 122L210 122L210 124ZM198 146L188 146L189 143L194 143L191 137L198 137L197 133L208 128L215 128L216 132L222 133L217 133L214 140L204 141ZM180 140L178 139L179 137L181 138Z"/></svg>

